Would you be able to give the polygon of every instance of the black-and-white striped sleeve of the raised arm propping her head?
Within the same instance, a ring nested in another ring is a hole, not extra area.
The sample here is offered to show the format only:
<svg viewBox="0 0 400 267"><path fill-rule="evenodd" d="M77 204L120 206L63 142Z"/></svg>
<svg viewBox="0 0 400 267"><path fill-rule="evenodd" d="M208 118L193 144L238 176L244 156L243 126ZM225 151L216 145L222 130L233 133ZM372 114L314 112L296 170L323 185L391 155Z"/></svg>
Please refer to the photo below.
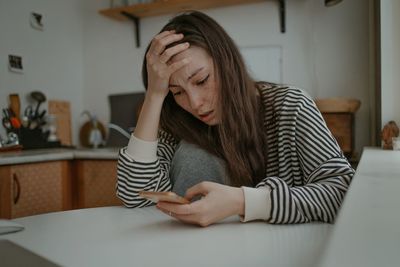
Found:
<svg viewBox="0 0 400 267"><path fill-rule="evenodd" d="M152 150L151 144L138 139L132 141L132 139L135 137L132 136L128 147L122 148L119 152L117 196L128 208L145 207L152 205L153 202L139 197L139 191L171 190L169 168L176 142L170 134L160 131L158 143L155 143L154 156L147 157L148 160L146 160L141 157L141 154L149 154L146 150ZM135 142L140 145L133 145L132 143ZM134 153L129 153L129 151Z"/></svg>

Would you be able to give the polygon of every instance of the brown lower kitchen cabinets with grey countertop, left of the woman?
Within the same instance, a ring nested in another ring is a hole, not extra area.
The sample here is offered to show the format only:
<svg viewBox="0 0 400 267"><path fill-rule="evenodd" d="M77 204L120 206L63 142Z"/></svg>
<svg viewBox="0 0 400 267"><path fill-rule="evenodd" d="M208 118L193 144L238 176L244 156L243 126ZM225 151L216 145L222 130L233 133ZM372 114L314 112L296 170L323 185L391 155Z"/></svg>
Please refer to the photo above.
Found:
<svg viewBox="0 0 400 267"><path fill-rule="evenodd" d="M0 218L122 205L117 149L43 149L0 154Z"/></svg>

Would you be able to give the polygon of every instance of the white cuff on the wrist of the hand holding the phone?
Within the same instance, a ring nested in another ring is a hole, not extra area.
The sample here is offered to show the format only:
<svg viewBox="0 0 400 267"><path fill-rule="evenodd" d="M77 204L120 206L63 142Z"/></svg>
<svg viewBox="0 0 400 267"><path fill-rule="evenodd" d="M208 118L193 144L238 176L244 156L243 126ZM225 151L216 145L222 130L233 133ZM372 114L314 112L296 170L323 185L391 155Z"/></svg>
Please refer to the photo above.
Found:
<svg viewBox="0 0 400 267"><path fill-rule="evenodd" d="M269 220L271 213L271 189L269 186L251 188L242 186L244 193L244 216L242 222Z"/></svg>

